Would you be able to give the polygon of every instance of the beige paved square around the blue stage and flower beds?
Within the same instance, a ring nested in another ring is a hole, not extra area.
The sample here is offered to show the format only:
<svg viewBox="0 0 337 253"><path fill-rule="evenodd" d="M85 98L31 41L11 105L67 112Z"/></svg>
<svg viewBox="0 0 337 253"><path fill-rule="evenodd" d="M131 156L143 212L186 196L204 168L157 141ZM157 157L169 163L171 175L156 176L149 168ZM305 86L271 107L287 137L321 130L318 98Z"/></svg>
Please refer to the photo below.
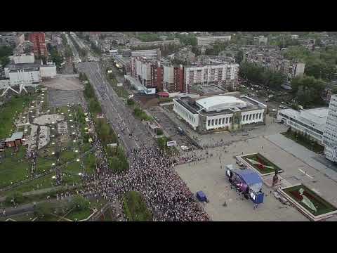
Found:
<svg viewBox="0 0 337 253"><path fill-rule="evenodd" d="M303 148L300 146L300 148ZM225 150L228 152L225 153ZM280 174L282 180L291 185L305 183L324 199L337 205L337 183L329 179L317 169L286 152L264 136L237 141L227 147L208 150L213 157L197 162L195 165L183 164L176 171L187 183L192 193L203 190L210 202L205 210L213 221L308 221L297 209L282 205L270 191L272 188L263 185L265 201L257 209L253 209L251 200L242 200L242 196L230 189L225 175L225 165L235 164L235 156L242 153L260 153L271 162L284 169ZM196 152L204 152L198 150ZM304 173L303 173L304 172ZM223 203L227 202L227 207ZM330 220L335 220L336 217Z"/></svg>

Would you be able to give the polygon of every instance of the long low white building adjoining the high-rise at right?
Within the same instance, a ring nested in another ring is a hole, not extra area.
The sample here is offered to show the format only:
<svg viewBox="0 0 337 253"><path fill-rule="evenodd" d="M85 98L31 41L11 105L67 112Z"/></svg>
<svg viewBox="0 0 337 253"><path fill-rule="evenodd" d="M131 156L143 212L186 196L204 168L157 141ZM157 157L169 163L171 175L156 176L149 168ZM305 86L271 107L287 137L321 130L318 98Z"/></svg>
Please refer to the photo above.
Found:
<svg viewBox="0 0 337 253"><path fill-rule="evenodd" d="M323 133L326 124L328 108L315 108L308 110L279 110L277 119L283 124L291 127L293 131L307 134L317 143L322 143Z"/></svg>

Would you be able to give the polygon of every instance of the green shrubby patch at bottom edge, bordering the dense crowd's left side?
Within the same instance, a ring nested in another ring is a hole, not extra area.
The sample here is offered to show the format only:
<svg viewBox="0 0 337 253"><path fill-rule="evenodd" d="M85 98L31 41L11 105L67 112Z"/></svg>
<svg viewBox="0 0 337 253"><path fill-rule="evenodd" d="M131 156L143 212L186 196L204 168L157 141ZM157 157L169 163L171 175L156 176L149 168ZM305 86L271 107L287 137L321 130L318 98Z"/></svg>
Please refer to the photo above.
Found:
<svg viewBox="0 0 337 253"><path fill-rule="evenodd" d="M124 195L123 209L128 221L152 221L152 214L139 192L131 191Z"/></svg>

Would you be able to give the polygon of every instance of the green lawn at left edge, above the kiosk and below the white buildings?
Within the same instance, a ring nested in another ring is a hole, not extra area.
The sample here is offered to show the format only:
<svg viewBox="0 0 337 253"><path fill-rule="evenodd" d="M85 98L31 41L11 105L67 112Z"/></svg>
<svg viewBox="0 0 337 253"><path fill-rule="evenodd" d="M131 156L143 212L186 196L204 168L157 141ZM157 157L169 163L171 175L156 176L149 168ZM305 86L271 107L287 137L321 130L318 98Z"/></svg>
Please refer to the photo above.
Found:
<svg viewBox="0 0 337 253"><path fill-rule="evenodd" d="M0 108L0 139L10 136L13 117L16 119L32 100L34 95L12 96L11 100Z"/></svg>

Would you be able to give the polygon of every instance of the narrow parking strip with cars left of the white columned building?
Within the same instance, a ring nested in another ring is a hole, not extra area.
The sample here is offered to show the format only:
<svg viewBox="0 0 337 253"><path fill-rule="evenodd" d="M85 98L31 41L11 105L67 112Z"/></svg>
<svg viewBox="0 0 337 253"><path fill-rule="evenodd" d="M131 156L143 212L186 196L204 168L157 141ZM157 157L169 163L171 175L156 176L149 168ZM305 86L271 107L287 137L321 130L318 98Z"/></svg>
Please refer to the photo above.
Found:
<svg viewBox="0 0 337 253"><path fill-rule="evenodd" d="M184 134L178 133L178 127L174 122L167 117L164 112L161 112L161 110L156 106L151 108L150 113L152 116L157 118L157 123L159 126L161 126L162 129L166 132L166 134L169 134L169 136L172 138L173 141L177 141L177 144L179 147L182 145L186 145L189 148L195 149L192 142L185 136Z"/></svg>

